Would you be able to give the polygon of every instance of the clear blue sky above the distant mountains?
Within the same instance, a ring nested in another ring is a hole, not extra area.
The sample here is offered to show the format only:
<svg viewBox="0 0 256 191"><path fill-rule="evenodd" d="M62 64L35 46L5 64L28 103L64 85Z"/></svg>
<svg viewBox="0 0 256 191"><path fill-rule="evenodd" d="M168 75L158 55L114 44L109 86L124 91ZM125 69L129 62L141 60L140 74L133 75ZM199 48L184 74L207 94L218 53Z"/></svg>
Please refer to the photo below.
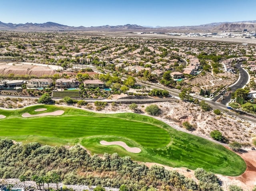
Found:
<svg viewBox="0 0 256 191"><path fill-rule="evenodd" d="M192 26L256 20L256 0L1 0L4 23Z"/></svg>

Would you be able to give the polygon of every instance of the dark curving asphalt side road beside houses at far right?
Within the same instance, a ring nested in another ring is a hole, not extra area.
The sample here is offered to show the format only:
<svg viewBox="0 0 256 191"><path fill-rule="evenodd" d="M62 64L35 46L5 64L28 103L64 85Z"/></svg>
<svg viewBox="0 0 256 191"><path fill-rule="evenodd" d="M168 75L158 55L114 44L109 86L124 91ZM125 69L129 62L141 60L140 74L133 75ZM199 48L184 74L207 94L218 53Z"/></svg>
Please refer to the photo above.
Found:
<svg viewBox="0 0 256 191"><path fill-rule="evenodd" d="M241 65L242 63L236 64L236 67L239 69L240 79L236 84L230 87L232 92L236 91L239 88L243 88L248 82L248 79L249 79L248 73L241 67ZM220 98L221 95L222 94L216 96L215 98L212 99L212 101L218 100L218 98ZM230 102L230 98L231 98L231 94L228 96L224 96L224 99L222 100L221 104L227 105Z"/></svg>

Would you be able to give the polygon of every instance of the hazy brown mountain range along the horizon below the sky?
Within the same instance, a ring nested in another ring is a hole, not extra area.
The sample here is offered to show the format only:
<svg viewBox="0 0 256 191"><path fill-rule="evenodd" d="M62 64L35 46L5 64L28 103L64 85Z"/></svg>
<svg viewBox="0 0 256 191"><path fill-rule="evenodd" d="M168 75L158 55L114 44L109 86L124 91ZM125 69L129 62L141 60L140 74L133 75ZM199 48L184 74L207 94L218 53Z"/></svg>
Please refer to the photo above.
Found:
<svg viewBox="0 0 256 191"><path fill-rule="evenodd" d="M62 25L54 22L25 23L12 24L0 22L0 30L8 31L127 31L127 32L194 32L194 31L241 31L247 29L249 31L256 31L256 21L241 21L241 22L217 22L198 26L176 26L176 27L161 27L161 26L139 26L136 24L126 24L118 26L91 26L91 27L74 27Z"/></svg>

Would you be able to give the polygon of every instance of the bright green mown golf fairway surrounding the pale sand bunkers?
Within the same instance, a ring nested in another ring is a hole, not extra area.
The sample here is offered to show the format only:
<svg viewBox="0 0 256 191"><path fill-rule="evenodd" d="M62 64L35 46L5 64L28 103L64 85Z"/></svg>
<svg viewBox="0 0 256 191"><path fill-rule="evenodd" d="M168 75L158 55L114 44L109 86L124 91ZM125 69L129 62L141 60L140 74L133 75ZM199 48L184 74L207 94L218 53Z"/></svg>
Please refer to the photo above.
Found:
<svg viewBox="0 0 256 191"><path fill-rule="evenodd" d="M47 108L35 112L36 108ZM24 112L39 114L64 110L61 116L22 118ZM137 161L172 167L188 167L223 175L240 175L246 164L234 152L206 139L175 130L164 122L133 113L99 114L53 105L37 105L19 110L0 110L0 138L49 145L81 144L90 152L131 156ZM124 141L142 152L133 154L120 146L103 146L101 140Z"/></svg>

